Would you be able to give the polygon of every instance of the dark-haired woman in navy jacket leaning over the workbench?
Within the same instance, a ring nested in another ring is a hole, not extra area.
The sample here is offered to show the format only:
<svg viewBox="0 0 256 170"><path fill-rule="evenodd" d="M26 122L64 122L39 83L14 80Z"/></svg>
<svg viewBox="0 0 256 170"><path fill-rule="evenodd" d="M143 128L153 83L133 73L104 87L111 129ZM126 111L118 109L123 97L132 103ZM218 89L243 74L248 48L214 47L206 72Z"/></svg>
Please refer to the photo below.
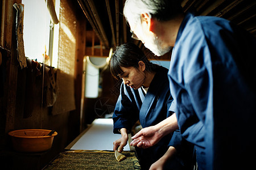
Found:
<svg viewBox="0 0 256 170"><path fill-rule="evenodd" d="M142 128L158 124L171 115L169 108L173 99L167 77L168 69L148 61L135 44L117 47L110 60L110 71L115 78L123 80L113 114L114 133L122 135L114 141L113 149L122 152L135 122L139 120ZM176 152L175 148L180 147L181 142L181 150L184 152ZM150 148L138 149L142 169L149 169L167 150L172 159L162 165L168 169L193 169L193 146L183 141L179 131L166 135Z"/></svg>

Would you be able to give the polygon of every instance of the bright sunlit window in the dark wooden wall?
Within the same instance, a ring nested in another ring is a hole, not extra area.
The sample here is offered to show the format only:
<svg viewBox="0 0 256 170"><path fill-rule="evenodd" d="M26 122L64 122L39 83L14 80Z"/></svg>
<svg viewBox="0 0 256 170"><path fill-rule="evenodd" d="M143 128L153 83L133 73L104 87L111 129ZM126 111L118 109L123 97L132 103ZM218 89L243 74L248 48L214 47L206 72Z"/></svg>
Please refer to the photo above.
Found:
<svg viewBox="0 0 256 170"><path fill-rule="evenodd" d="M54 0L53 0L54 1ZM53 24L45 0L23 0L25 56L57 67L59 24ZM60 0L55 1L59 18Z"/></svg>

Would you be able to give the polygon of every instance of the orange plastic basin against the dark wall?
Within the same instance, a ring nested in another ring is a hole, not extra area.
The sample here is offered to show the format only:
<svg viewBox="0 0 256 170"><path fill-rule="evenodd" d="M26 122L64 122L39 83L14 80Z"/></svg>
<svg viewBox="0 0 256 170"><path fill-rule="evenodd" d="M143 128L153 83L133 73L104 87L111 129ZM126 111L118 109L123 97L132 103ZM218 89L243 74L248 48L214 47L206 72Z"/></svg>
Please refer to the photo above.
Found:
<svg viewBox="0 0 256 170"><path fill-rule="evenodd" d="M13 148L19 152L43 152L52 147L53 138L57 132L51 136L47 134L51 130L46 129L21 129L10 131Z"/></svg>

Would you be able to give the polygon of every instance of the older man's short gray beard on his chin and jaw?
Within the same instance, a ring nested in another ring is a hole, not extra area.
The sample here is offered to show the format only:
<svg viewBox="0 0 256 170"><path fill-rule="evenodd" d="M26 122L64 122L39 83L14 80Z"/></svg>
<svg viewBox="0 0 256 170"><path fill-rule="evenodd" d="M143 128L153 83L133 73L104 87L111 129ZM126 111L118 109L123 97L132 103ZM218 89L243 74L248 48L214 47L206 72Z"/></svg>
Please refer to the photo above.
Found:
<svg viewBox="0 0 256 170"><path fill-rule="evenodd" d="M158 37L156 36L152 37L150 43L145 42L144 46L150 49L151 52L153 52L156 56L163 56L163 54L166 54L171 50L171 46L167 46L167 48L161 48L162 43L158 40Z"/></svg>

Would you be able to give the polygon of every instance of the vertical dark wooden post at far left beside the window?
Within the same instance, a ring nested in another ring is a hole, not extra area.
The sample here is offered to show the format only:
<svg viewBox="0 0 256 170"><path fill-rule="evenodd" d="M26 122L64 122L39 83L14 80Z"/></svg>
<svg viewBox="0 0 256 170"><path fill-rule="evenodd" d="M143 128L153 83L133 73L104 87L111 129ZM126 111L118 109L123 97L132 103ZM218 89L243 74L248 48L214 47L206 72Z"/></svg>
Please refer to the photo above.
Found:
<svg viewBox="0 0 256 170"><path fill-rule="evenodd" d="M3 0L2 1L2 24L1 24L1 32L3 31L3 37L1 33L1 46L6 49L10 49L11 56L10 62L7 63L9 65L7 70L7 96L6 99L6 124L5 124L5 132L9 132L10 130L14 130L14 122L15 122L15 113L16 113L16 91L17 91L17 78L18 78L18 65L17 62L17 52L15 45L11 45L12 43L16 43L16 37L13 37L13 27L14 25L14 3L21 3L21 0Z"/></svg>

